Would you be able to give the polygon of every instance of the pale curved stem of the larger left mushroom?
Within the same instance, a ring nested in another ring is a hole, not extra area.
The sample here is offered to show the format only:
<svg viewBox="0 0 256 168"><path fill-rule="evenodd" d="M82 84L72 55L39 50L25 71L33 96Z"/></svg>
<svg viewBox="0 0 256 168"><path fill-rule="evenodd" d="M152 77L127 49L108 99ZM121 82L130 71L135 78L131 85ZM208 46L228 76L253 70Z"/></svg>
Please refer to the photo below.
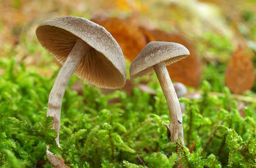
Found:
<svg viewBox="0 0 256 168"><path fill-rule="evenodd" d="M83 48L83 49L82 49ZM72 48L62 68L60 69L57 78L54 82L53 88L49 95L47 116L53 116L53 129L57 132L55 141L60 147L59 133L60 133L60 118L62 108L62 98L66 90L66 86L74 73L77 65L82 60L83 56L90 49L87 43L81 39L77 39L75 46Z"/></svg>

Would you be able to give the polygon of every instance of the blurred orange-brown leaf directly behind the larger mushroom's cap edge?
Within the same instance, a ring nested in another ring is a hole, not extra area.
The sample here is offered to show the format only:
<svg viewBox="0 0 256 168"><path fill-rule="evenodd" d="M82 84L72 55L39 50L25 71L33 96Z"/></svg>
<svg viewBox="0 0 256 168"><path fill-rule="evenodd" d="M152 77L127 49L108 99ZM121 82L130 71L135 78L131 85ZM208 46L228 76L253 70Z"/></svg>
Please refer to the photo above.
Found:
<svg viewBox="0 0 256 168"><path fill-rule="evenodd" d="M144 34L128 19L98 17L91 19L91 21L105 27L119 43L124 56L131 61L147 43Z"/></svg>

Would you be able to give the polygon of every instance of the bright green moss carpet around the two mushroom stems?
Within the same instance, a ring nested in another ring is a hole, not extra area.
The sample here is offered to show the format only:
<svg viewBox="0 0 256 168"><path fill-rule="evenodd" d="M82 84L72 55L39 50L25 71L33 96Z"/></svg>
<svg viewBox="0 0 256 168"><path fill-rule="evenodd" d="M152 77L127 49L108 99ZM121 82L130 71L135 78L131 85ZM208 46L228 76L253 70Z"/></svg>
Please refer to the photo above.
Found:
<svg viewBox="0 0 256 168"><path fill-rule="evenodd" d="M208 94L203 82L201 99L184 99L185 146L172 143L164 123L168 107L157 80L149 86L156 95L133 88L132 95L115 91L104 95L84 84L83 95L67 88L62 104L60 143L54 142L46 118L53 78L27 71L12 59L0 59L5 69L0 78L0 166L51 167L46 144L72 168L167 168L183 164L189 168L256 167L256 104L238 112L237 103L224 90L224 97ZM6 68L7 67L7 68ZM152 79L156 77L153 76ZM69 86L77 79L71 78ZM217 82L217 81L215 81ZM217 84L216 84L217 86ZM118 103L108 103L118 98ZM178 156L181 155L181 158ZM142 163L138 163L139 156ZM139 165L140 164L140 165Z"/></svg>

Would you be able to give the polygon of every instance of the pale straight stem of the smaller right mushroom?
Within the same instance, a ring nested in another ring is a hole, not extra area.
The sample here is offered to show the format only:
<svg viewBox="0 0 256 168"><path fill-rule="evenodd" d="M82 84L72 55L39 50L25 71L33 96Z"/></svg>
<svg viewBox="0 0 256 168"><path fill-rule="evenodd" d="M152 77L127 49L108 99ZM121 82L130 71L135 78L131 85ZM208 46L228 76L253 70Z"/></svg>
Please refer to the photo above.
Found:
<svg viewBox="0 0 256 168"><path fill-rule="evenodd" d="M184 145L181 107L172 85L171 78L164 62L156 64L153 67L169 108L171 140L172 142L176 142L177 139L180 138Z"/></svg>

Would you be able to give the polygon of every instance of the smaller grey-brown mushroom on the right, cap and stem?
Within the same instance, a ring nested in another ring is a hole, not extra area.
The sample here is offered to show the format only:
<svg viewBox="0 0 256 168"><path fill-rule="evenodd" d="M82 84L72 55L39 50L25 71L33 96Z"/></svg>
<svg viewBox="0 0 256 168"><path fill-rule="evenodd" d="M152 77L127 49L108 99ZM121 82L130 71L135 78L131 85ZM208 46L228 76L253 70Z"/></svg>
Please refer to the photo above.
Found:
<svg viewBox="0 0 256 168"><path fill-rule="evenodd" d="M141 50L130 66L131 79L155 71L169 108L170 124L168 128L171 131L171 140L176 142L180 138L183 144L181 107L166 66L188 55L190 55L190 52L181 44L150 42Z"/></svg>

